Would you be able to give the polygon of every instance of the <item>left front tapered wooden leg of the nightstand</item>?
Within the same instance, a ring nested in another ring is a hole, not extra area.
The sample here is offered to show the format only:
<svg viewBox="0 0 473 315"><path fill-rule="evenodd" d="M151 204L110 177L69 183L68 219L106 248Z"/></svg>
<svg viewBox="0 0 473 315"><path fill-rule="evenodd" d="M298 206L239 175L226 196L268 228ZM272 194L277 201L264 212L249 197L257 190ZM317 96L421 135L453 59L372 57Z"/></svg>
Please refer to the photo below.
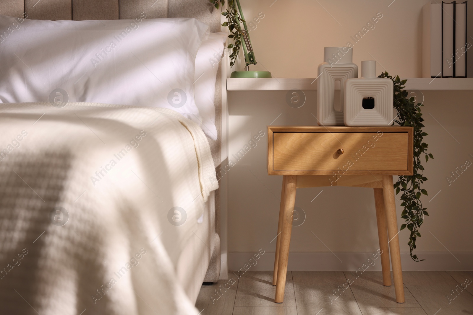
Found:
<svg viewBox="0 0 473 315"><path fill-rule="evenodd" d="M284 300L284 287L286 286L286 272L288 270L289 243L291 241L292 211L296 202L296 176L284 176L284 210L281 221L281 234L278 258L278 275L276 279L276 303Z"/></svg>

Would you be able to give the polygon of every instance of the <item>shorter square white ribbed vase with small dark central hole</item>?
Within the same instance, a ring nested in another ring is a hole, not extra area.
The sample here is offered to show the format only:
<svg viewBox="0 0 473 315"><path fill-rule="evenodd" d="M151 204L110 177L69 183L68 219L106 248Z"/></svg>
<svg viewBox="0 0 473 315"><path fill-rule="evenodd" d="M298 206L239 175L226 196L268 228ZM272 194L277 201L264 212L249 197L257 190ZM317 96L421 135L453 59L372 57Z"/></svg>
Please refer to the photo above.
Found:
<svg viewBox="0 0 473 315"><path fill-rule="evenodd" d="M346 126L390 126L393 81L376 77L376 61L361 61L361 77L345 82L343 121Z"/></svg>

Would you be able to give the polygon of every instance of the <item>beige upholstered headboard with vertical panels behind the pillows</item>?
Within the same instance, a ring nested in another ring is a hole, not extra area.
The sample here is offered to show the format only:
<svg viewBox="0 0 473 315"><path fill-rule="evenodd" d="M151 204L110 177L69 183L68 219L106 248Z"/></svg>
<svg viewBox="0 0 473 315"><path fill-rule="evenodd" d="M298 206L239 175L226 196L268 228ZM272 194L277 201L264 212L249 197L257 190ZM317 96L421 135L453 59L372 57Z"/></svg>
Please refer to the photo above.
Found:
<svg viewBox="0 0 473 315"><path fill-rule="evenodd" d="M0 0L0 14L38 20L115 20L134 19L146 13L147 18L193 17L221 31L220 10L208 0ZM222 161L222 66L215 85L215 125L218 140L210 140L215 167ZM225 97L225 96L224 96ZM215 192L216 242L205 281L217 282L220 273L220 189Z"/></svg>

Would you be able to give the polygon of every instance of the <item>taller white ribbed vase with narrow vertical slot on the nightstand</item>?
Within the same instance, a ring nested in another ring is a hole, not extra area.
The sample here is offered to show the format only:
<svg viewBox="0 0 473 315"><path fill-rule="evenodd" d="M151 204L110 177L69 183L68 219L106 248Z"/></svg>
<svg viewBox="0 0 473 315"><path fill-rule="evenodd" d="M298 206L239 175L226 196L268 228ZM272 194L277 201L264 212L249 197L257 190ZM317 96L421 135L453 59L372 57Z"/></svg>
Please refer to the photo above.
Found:
<svg viewBox="0 0 473 315"><path fill-rule="evenodd" d="M353 62L349 47L324 47L324 62L318 67L317 124L343 126L344 84L358 77L358 66ZM340 81L340 102L335 102L335 82Z"/></svg>

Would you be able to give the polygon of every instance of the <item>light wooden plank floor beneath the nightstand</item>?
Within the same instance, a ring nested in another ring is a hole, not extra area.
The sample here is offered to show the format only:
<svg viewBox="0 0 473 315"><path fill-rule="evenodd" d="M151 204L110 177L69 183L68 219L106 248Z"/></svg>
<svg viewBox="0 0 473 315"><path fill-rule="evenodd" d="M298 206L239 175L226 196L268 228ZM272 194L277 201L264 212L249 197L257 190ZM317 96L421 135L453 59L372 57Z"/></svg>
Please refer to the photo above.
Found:
<svg viewBox="0 0 473 315"><path fill-rule="evenodd" d="M288 271L280 304L272 271L229 273L228 279L202 286L195 304L202 315L473 314L473 272L405 271L403 304L396 303L394 286L383 286L381 272Z"/></svg>

